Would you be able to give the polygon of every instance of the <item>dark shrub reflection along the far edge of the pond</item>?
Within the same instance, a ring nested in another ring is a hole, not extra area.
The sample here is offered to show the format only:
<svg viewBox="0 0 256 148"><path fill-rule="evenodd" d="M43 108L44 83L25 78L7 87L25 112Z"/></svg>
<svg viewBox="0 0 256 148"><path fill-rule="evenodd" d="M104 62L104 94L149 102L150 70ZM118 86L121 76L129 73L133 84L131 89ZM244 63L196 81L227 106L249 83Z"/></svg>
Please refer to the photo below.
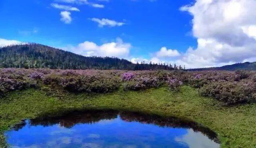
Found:
<svg viewBox="0 0 256 148"><path fill-rule="evenodd" d="M208 136L214 142L219 143L217 134L210 130L209 128L203 127L202 125L177 118L177 117L161 117L159 115L150 115L131 111L114 111L114 110L86 110L86 111L72 111L52 117L39 117L36 119L30 119L30 125L42 125L51 126L60 124L61 127L71 128L78 123L92 124L99 122L100 120L111 120L116 119L117 115L123 121L127 122L140 122L143 124L154 124L160 127L173 127L173 128L186 128L193 129L195 132L201 132L202 134ZM22 121L21 124L14 126L14 130L22 129L26 125L26 121Z"/></svg>

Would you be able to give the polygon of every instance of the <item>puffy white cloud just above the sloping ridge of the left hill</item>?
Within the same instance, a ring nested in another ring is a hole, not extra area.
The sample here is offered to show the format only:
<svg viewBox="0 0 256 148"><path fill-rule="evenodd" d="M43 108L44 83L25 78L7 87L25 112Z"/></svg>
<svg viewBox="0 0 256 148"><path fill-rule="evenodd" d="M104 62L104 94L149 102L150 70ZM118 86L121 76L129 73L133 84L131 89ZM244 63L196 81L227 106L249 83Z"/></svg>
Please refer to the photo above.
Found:
<svg viewBox="0 0 256 148"><path fill-rule="evenodd" d="M94 42L85 41L78 44L76 47L67 47L66 50L84 56L114 56L126 58L129 56L131 45L123 43L122 39L117 39L116 42L97 45Z"/></svg>

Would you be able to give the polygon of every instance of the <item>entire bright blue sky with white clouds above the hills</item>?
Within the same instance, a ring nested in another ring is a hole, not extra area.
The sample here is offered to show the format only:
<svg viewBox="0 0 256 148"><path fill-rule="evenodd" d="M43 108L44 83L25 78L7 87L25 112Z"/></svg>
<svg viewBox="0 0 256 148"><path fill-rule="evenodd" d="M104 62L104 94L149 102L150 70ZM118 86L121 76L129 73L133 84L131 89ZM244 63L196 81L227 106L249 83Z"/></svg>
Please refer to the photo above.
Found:
<svg viewBox="0 0 256 148"><path fill-rule="evenodd" d="M1 0L0 39L41 43L85 56L118 56L133 62L219 66L254 60L251 54L254 49L243 44L244 50L247 49L244 52L240 44L247 38L246 45L256 43L256 19L249 14L254 10L243 13L247 4L255 3L254 0ZM230 9L210 13L219 7ZM238 9L234 16L234 10ZM253 21L241 23L239 18L243 15L249 15ZM226 23L230 19L234 25ZM232 39L234 36L239 41ZM239 52L247 54L237 57Z"/></svg>

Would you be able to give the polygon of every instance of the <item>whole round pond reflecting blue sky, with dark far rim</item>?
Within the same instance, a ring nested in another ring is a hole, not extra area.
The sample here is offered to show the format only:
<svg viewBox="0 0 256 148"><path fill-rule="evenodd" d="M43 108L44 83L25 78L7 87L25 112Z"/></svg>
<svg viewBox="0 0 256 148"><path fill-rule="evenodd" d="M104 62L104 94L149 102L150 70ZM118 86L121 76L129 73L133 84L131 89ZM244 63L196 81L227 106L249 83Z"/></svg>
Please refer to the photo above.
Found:
<svg viewBox="0 0 256 148"><path fill-rule="evenodd" d="M130 111L72 111L22 121L5 132L14 148L218 148L215 132L192 121Z"/></svg>

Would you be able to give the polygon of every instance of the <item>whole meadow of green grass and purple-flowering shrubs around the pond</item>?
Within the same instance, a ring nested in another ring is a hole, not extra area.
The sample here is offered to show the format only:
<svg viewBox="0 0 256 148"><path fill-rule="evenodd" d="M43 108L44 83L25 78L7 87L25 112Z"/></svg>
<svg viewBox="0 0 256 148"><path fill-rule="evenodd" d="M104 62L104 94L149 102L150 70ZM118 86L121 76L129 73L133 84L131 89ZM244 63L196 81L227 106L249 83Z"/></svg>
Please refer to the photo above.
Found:
<svg viewBox="0 0 256 148"><path fill-rule="evenodd" d="M126 109L196 121L214 130L222 147L256 146L254 71L5 68L0 80L1 132L42 114Z"/></svg>

